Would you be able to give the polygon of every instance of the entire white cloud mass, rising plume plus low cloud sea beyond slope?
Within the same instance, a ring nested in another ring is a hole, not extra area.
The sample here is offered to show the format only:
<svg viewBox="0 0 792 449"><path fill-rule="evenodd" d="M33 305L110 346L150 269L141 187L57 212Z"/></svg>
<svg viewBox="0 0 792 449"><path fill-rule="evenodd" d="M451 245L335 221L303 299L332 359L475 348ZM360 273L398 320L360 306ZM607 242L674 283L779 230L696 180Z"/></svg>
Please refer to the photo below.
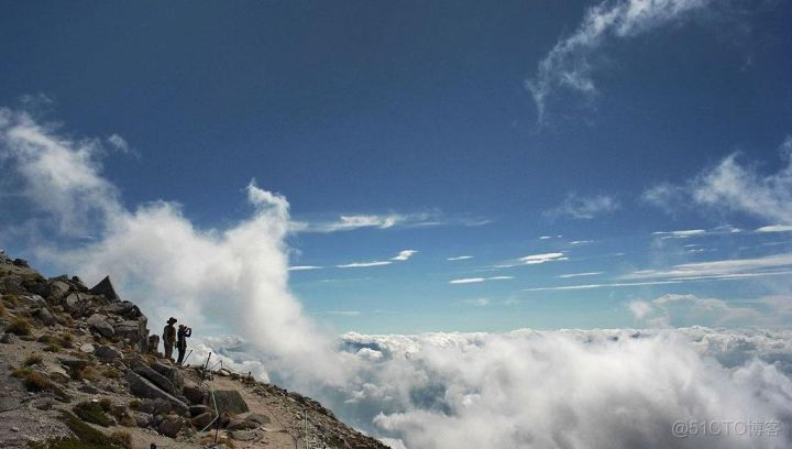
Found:
<svg viewBox="0 0 792 449"><path fill-rule="evenodd" d="M205 335L193 363L212 351L394 448L792 445L790 330L329 335L288 288L284 196L250 182L250 215L223 229L172 200L130 207L102 174L119 139L0 108L0 188L25 217L0 220L0 244L87 282L110 273L152 324L178 315Z"/></svg>

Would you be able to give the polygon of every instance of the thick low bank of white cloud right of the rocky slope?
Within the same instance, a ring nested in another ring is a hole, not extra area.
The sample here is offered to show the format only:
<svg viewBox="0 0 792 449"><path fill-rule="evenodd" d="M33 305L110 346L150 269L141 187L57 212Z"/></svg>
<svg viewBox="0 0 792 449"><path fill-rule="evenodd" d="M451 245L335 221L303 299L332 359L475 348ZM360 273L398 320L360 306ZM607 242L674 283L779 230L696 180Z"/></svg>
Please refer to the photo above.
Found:
<svg viewBox="0 0 792 449"><path fill-rule="evenodd" d="M706 328L348 333L343 347L366 349L367 368L340 409L358 423L374 417L370 431L411 449L788 447L783 430L678 438L671 426L759 417L785 429L791 337Z"/></svg>

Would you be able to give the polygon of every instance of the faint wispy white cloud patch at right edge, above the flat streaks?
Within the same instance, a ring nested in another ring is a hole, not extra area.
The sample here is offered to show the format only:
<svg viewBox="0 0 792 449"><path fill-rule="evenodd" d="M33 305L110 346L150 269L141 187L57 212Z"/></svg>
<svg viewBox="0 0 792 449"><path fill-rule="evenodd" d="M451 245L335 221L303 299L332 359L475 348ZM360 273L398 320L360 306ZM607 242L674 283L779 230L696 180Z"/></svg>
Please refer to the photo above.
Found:
<svg viewBox="0 0 792 449"><path fill-rule="evenodd" d="M644 199L666 210L693 204L727 212L741 212L773 220L783 229L792 223L792 139L781 145L784 165L776 173L762 174L756 164L743 165L737 155L725 157L714 168L705 169L683 185L668 183L644 193ZM760 228L762 229L762 228Z"/></svg>

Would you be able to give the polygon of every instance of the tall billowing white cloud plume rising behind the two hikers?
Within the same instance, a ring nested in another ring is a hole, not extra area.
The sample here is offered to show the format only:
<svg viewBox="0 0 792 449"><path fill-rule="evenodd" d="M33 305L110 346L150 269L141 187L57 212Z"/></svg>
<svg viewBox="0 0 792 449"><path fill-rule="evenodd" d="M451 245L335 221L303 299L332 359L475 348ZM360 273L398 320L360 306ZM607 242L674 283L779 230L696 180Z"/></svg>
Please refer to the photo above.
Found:
<svg viewBox="0 0 792 449"><path fill-rule="evenodd" d="M233 330L267 353L273 370L311 376L317 368L309 365L318 364L329 382L343 379L346 368L331 339L288 291L286 198L251 182L250 217L227 229L200 229L179 205L165 200L131 210L101 175L96 142L66 138L25 112L0 109L3 173L19 177L31 207L55 223L56 232L45 239L30 236L36 260L89 283L110 274L154 329L178 316L201 333ZM78 248L56 245L75 232L96 238Z"/></svg>

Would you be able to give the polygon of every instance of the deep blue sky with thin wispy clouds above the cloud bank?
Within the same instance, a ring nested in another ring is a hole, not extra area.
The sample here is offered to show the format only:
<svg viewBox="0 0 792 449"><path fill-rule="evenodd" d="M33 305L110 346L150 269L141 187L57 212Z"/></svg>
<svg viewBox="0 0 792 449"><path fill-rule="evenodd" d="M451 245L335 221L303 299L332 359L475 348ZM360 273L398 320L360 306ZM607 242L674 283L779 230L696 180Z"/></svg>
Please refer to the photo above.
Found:
<svg viewBox="0 0 792 449"><path fill-rule="evenodd" d="M8 2L0 106L120 136L129 209L282 194L337 330L788 325L792 4L721 3Z"/></svg>

